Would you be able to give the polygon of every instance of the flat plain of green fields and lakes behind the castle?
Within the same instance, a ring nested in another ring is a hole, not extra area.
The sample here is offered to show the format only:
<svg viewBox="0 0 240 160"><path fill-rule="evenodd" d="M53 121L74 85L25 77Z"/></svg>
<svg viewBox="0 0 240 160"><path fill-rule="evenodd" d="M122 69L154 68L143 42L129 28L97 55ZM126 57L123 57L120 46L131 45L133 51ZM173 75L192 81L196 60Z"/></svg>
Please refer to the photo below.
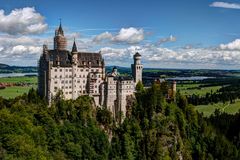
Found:
<svg viewBox="0 0 240 160"><path fill-rule="evenodd" d="M37 89L37 67L20 67L20 66L8 66L2 64L1 69L5 68L4 73L23 73L23 76L0 78L0 83L17 84L14 86L0 89L0 96L4 98L15 98L24 93L28 93L30 89ZM106 71L110 72L113 66L107 66ZM6 69L8 68L8 69ZM120 74L131 74L130 68L117 66ZM24 76L24 73L32 73L32 75ZM238 70L189 70L189 69L158 69L158 68L146 68L143 70L143 84L145 86L151 86L156 79L166 79L170 84L173 80L177 81L177 90L187 97L197 95L205 97L206 94L213 94L219 92L219 89L232 84L238 84L240 82L240 71ZM21 85L22 84L22 85ZM240 89L240 88L239 88ZM208 103L208 104L194 104L196 109L203 113L205 116L210 116L216 109L220 111L234 114L240 109L240 102L238 99L234 102L221 102Z"/></svg>

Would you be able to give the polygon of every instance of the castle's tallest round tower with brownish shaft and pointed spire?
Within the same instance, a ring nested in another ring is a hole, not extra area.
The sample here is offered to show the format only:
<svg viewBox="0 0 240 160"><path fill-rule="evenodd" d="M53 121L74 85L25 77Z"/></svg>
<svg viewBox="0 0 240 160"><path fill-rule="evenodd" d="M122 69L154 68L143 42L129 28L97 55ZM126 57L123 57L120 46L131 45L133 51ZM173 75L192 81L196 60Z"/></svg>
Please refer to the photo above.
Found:
<svg viewBox="0 0 240 160"><path fill-rule="evenodd" d="M58 29L55 30L54 49L66 50L66 46L67 46L67 39L64 37L62 23L60 21L60 25Z"/></svg>

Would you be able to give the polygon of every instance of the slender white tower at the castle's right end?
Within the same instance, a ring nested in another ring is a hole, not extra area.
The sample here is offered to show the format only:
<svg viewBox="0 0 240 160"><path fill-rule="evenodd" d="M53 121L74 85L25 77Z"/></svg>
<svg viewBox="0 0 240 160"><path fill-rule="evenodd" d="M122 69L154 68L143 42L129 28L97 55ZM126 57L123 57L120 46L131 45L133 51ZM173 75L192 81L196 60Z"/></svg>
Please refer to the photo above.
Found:
<svg viewBox="0 0 240 160"><path fill-rule="evenodd" d="M132 76L135 84L142 82L142 70L143 65L141 64L142 56L137 52L133 56L134 64L132 64Z"/></svg>

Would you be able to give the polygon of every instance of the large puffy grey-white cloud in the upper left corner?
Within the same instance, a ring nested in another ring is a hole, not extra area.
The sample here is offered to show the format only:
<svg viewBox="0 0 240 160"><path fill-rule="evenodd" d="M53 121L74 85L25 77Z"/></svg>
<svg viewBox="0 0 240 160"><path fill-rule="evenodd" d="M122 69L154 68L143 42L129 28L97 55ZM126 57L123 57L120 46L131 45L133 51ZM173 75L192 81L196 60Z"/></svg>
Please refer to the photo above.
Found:
<svg viewBox="0 0 240 160"><path fill-rule="evenodd" d="M0 32L11 35L39 34L47 29L44 17L34 7L14 9L8 15L0 10Z"/></svg>

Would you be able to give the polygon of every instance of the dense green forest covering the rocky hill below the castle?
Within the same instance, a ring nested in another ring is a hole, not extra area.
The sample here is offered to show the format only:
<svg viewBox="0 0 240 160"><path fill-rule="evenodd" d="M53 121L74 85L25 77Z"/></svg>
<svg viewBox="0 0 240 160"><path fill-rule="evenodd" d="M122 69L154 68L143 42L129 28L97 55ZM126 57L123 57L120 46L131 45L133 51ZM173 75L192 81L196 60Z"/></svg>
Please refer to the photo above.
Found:
<svg viewBox="0 0 240 160"><path fill-rule="evenodd" d="M31 89L0 97L0 159L240 159L240 112L216 110L203 117L178 93L166 101L166 85L137 85L122 123L89 96L51 106Z"/></svg>

